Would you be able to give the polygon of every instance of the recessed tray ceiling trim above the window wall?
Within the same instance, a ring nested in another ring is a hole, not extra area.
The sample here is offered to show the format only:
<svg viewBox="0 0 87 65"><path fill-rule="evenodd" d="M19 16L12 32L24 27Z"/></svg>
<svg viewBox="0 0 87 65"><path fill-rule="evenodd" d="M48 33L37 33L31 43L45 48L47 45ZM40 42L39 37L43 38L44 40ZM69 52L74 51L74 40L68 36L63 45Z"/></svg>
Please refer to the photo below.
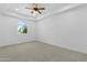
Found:
<svg viewBox="0 0 87 65"><path fill-rule="evenodd" d="M24 13L19 13L18 11L14 11L14 10L11 10L11 9L4 9L4 8L0 8L0 14L11 17L11 18L24 19L24 20L29 20L29 21L36 20L35 18L33 18L31 15L26 15Z"/></svg>

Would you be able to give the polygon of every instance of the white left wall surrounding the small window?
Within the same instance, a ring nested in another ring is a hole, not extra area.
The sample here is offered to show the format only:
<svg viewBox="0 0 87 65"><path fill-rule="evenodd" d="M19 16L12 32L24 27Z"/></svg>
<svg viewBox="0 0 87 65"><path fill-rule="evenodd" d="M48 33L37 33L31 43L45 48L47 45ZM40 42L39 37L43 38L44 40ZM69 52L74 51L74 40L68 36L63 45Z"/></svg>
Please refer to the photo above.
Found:
<svg viewBox="0 0 87 65"><path fill-rule="evenodd" d="M18 21L19 19L0 14L0 46L35 40L35 23L25 21L25 23L28 23L29 33L18 35Z"/></svg>

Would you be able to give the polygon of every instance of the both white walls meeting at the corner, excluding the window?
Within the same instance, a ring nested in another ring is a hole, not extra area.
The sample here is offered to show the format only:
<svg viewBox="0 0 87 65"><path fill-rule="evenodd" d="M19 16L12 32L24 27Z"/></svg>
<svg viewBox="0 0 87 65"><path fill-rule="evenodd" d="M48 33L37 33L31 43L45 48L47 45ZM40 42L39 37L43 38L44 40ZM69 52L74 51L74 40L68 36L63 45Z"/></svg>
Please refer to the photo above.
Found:
<svg viewBox="0 0 87 65"><path fill-rule="evenodd" d="M87 7L55 14L37 23L25 21L29 33L24 35L18 35L18 21L0 15L0 46L39 40L87 53Z"/></svg>

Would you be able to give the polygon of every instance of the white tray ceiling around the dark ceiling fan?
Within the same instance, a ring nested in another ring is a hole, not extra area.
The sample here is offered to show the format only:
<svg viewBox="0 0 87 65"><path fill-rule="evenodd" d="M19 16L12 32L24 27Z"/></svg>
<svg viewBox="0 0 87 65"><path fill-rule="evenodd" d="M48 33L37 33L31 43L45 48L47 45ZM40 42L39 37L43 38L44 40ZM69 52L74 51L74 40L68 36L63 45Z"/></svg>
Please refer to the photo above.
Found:
<svg viewBox="0 0 87 65"><path fill-rule="evenodd" d="M36 17L32 17L30 11L25 9L26 7L31 7L31 3L0 3L0 13L4 15L10 15L14 18L25 19L25 20L36 20L47 17L55 12L61 12L63 10L67 10L79 6L78 3L43 3L40 4L45 7L45 11L43 14L36 14Z"/></svg>

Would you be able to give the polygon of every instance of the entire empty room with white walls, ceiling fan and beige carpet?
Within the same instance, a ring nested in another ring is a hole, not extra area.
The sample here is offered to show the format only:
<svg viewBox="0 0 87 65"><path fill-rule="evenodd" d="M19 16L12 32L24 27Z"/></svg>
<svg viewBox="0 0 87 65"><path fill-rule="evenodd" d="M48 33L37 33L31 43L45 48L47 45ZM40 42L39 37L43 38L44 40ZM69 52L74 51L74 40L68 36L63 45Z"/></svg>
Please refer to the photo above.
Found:
<svg viewBox="0 0 87 65"><path fill-rule="evenodd" d="M0 62L87 62L87 3L0 3Z"/></svg>

